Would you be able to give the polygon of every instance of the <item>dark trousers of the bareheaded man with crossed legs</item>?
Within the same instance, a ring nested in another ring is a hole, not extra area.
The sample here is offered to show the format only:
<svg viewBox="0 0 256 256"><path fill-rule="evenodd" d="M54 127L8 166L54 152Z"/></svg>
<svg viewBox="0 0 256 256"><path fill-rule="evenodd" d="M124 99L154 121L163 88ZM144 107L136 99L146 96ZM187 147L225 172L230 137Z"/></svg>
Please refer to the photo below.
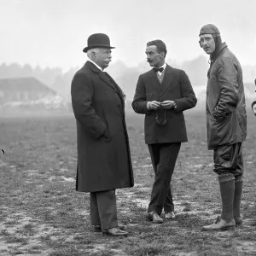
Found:
<svg viewBox="0 0 256 256"><path fill-rule="evenodd" d="M148 212L173 212L171 180L181 143L148 144L154 168L154 184Z"/></svg>

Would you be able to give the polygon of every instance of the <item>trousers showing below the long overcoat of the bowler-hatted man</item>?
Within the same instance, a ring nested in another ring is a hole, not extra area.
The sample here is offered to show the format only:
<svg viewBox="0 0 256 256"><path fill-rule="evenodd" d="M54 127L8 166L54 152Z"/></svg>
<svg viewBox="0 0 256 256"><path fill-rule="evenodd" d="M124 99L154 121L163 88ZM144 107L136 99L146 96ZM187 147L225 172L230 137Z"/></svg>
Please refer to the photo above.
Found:
<svg viewBox="0 0 256 256"><path fill-rule="evenodd" d="M115 190L90 192L90 224L102 230L118 226Z"/></svg>

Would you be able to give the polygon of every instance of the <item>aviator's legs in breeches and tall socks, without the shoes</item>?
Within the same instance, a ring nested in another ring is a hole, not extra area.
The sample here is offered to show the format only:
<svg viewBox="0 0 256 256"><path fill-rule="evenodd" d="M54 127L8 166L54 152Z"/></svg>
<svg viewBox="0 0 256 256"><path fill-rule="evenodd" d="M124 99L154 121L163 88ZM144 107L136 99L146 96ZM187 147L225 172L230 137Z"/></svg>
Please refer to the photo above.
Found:
<svg viewBox="0 0 256 256"><path fill-rule="evenodd" d="M222 218L225 220L240 217L243 174L241 149L242 143L214 149L214 172L218 174L223 206Z"/></svg>

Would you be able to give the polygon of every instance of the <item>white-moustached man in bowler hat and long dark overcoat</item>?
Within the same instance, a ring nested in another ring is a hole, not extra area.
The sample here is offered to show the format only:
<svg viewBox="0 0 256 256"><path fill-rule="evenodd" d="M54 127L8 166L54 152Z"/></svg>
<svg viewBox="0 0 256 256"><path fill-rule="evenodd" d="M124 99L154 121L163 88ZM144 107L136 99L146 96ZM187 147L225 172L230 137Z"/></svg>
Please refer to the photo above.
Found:
<svg viewBox="0 0 256 256"><path fill-rule="evenodd" d="M84 48L89 61L73 77L71 95L78 134L76 189L90 192L90 223L95 231L126 236L117 221L115 189L130 188L134 181L124 95L103 72L113 48L107 35L91 35Z"/></svg>

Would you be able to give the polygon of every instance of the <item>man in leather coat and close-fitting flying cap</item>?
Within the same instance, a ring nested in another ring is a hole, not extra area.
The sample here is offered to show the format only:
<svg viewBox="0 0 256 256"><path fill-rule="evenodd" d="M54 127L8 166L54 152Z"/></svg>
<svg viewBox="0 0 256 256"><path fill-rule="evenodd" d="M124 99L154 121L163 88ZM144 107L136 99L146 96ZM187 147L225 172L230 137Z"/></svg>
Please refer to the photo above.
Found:
<svg viewBox="0 0 256 256"><path fill-rule="evenodd" d="M247 113L241 65L222 43L216 26L202 26L199 37L201 48L210 55L207 143L213 150L213 171L218 174L222 199L221 217L203 230L228 230L242 222L242 142L247 136Z"/></svg>

